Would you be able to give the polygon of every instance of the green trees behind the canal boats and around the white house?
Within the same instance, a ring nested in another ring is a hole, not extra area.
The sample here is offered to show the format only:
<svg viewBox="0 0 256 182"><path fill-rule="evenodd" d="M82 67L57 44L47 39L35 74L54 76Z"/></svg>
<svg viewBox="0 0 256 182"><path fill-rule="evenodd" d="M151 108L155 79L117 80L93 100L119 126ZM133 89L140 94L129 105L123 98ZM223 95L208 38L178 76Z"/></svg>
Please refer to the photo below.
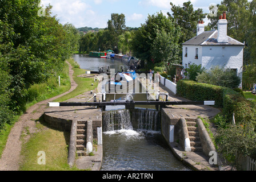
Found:
<svg viewBox="0 0 256 182"><path fill-rule="evenodd" d="M245 42L244 49L244 88L252 86L256 80L256 1L223 0L217 5L216 16L194 9L190 1L183 6L170 2L167 16L162 12L148 15L141 27L131 29L125 25L125 15L111 14L107 28L83 35L79 43L80 53L106 51L133 55L147 62L148 67L163 67L167 70L172 64L182 61L182 43L196 35L197 22L209 19L205 30L217 29L219 15L227 12L227 34L239 42ZM209 7L210 9L211 7Z"/></svg>

